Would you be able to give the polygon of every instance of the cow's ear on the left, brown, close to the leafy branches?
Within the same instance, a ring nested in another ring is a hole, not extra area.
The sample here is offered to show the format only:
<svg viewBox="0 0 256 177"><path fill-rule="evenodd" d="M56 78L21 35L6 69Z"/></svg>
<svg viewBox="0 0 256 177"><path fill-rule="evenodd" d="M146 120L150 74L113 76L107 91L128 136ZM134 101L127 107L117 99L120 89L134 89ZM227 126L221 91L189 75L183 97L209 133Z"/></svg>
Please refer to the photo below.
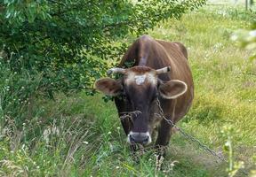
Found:
<svg viewBox="0 0 256 177"><path fill-rule="evenodd" d="M108 96L118 96L123 86L120 81L116 81L110 78L103 78L95 82L95 88Z"/></svg>

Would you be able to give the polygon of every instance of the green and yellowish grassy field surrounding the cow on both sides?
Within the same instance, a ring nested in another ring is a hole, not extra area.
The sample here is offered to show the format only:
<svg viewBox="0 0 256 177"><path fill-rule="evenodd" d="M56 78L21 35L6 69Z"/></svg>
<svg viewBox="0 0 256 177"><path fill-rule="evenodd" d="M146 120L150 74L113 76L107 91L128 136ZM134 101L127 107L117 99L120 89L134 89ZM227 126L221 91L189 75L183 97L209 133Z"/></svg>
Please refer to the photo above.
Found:
<svg viewBox="0 0 256 177"><path fill-rule="evenodd" d="M205 6L148 32L188 48L196 93L178 126L225 156L227 136L221 129L232 126L234 157L244 161L247 171L253 168L256 151L256 63L246 59L251 53L239 50L230 35L249 27L252 18L238 7ZM60 94L55 101L37 101L31 110L33 119L23 123L21 131L9 122L15 134L0 142L0 160L5 159L0 176L228 176L228 164L179 133L172 136L163 171L156 171L152 150L135 163L116 108L101 95Z"/></svg>

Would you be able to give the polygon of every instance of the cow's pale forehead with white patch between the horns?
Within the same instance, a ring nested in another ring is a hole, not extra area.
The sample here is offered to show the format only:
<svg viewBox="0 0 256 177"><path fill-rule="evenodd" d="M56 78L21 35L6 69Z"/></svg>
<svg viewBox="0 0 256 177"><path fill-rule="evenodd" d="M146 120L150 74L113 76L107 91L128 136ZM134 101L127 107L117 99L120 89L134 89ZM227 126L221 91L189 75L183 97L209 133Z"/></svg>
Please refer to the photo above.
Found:
<svg viewBox="0 0 256 177"><path fill-rule="evenodd" d="M127 85L135 84L137 86L142 85L156 85L157 83L157 76L156 73L153 72L145 72L145 73L138 73L138 72L128 72L125 74L124 83Z"/></svg>

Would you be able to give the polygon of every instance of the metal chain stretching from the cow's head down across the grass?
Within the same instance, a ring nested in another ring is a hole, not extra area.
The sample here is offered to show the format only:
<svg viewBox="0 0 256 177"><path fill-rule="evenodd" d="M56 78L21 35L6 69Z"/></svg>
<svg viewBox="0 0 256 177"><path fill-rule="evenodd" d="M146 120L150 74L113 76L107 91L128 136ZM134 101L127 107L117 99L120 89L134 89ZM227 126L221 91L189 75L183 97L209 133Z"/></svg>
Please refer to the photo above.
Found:
<svg viewBox="0 0 256 177"><path fill-rule="evenodd" d="M175 127L179 130L179 132L181 133L181 135L184 135L185 138L187 138L188 140L190 140L191 142L196 142L199 147L201 147L203 150L208 151L209 153L212 154L212 156L219 158L221 161L227 162L228 160L226 158L224 158L223 156L220 156L217 152L215 152L214 150L211 150L208 146L206 146L203 142L200 142L199 140L197 140L194 136L192 135L188 135L188 133L186 133L184 130L182 130L180 127L177 127L173 121L171 119L166 119L164 116L164 111L161 107L160 101L157 98L156 104L159 108L160 114L158 114L159 116L161 116L168 124L170 124L172 127ZM157 113L156 113L157 114ZM240 171L238 171L240 173L243 173L244 175L248 175L249 173L240 169Z"/></svg>

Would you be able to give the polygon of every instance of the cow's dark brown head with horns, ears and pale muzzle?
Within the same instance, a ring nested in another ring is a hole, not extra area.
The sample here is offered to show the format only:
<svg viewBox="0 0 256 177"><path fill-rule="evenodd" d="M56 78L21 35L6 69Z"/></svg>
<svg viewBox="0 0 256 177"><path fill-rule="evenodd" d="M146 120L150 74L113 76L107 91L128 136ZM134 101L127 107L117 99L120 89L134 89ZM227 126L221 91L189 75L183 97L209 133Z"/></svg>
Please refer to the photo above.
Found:
<svg viewBox="0 0 256 177"><path fill-rule="evenodd" d="M187 91L184 81L160 81L158 74L170 71L170 66L162 69L152 69L148 66L133 66L132 68L112 68L110 73L121 73L119 80L103 78L95 83L96 89L108 96L120 96L125 106L124 112L132 114L129 127L128 142L148 144L156 123L161 120L156 114L158 96L164 99L175 99Z"/></svg>

